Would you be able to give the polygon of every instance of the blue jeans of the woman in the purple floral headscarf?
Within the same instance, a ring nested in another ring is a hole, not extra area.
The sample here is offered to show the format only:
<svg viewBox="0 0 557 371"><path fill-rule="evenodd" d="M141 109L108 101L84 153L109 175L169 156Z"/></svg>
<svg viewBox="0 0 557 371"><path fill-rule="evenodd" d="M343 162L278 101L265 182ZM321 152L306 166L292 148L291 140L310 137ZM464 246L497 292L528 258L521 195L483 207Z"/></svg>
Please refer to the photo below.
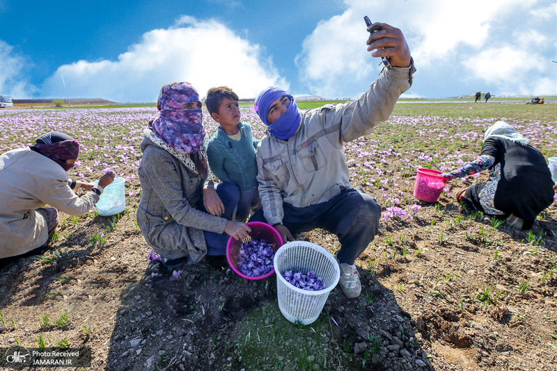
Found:
<svg viewBox="0 0 557 371"><path fill-rule="evenodd" d="M224 204L224 213L221 217L230 220L232 213L240 200L240 190L231 182L218 183L214 186L222 203ZM203 197L198 201L197 207L199 210L207 213L207 209L203 206ZM210 231L203 231L205 234L205 245L207 245L207 255L224 255L226 254L226 244L230 236L228 233L214 233Z"/></svg>

